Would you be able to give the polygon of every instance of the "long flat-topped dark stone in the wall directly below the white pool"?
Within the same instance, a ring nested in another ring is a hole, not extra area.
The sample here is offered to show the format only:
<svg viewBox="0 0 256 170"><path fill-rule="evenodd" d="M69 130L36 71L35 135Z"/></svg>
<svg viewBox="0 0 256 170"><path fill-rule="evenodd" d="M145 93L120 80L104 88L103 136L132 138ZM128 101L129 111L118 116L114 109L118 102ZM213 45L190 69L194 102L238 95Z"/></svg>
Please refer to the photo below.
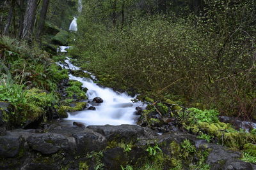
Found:
<svg viewBox="0 0 256 170"><path fill-rule="evenodd" d="M138 125L91 125L87 128L106 136L107 139L118 141L121 139L133 141L145 135L143 127Z"/></svg>

